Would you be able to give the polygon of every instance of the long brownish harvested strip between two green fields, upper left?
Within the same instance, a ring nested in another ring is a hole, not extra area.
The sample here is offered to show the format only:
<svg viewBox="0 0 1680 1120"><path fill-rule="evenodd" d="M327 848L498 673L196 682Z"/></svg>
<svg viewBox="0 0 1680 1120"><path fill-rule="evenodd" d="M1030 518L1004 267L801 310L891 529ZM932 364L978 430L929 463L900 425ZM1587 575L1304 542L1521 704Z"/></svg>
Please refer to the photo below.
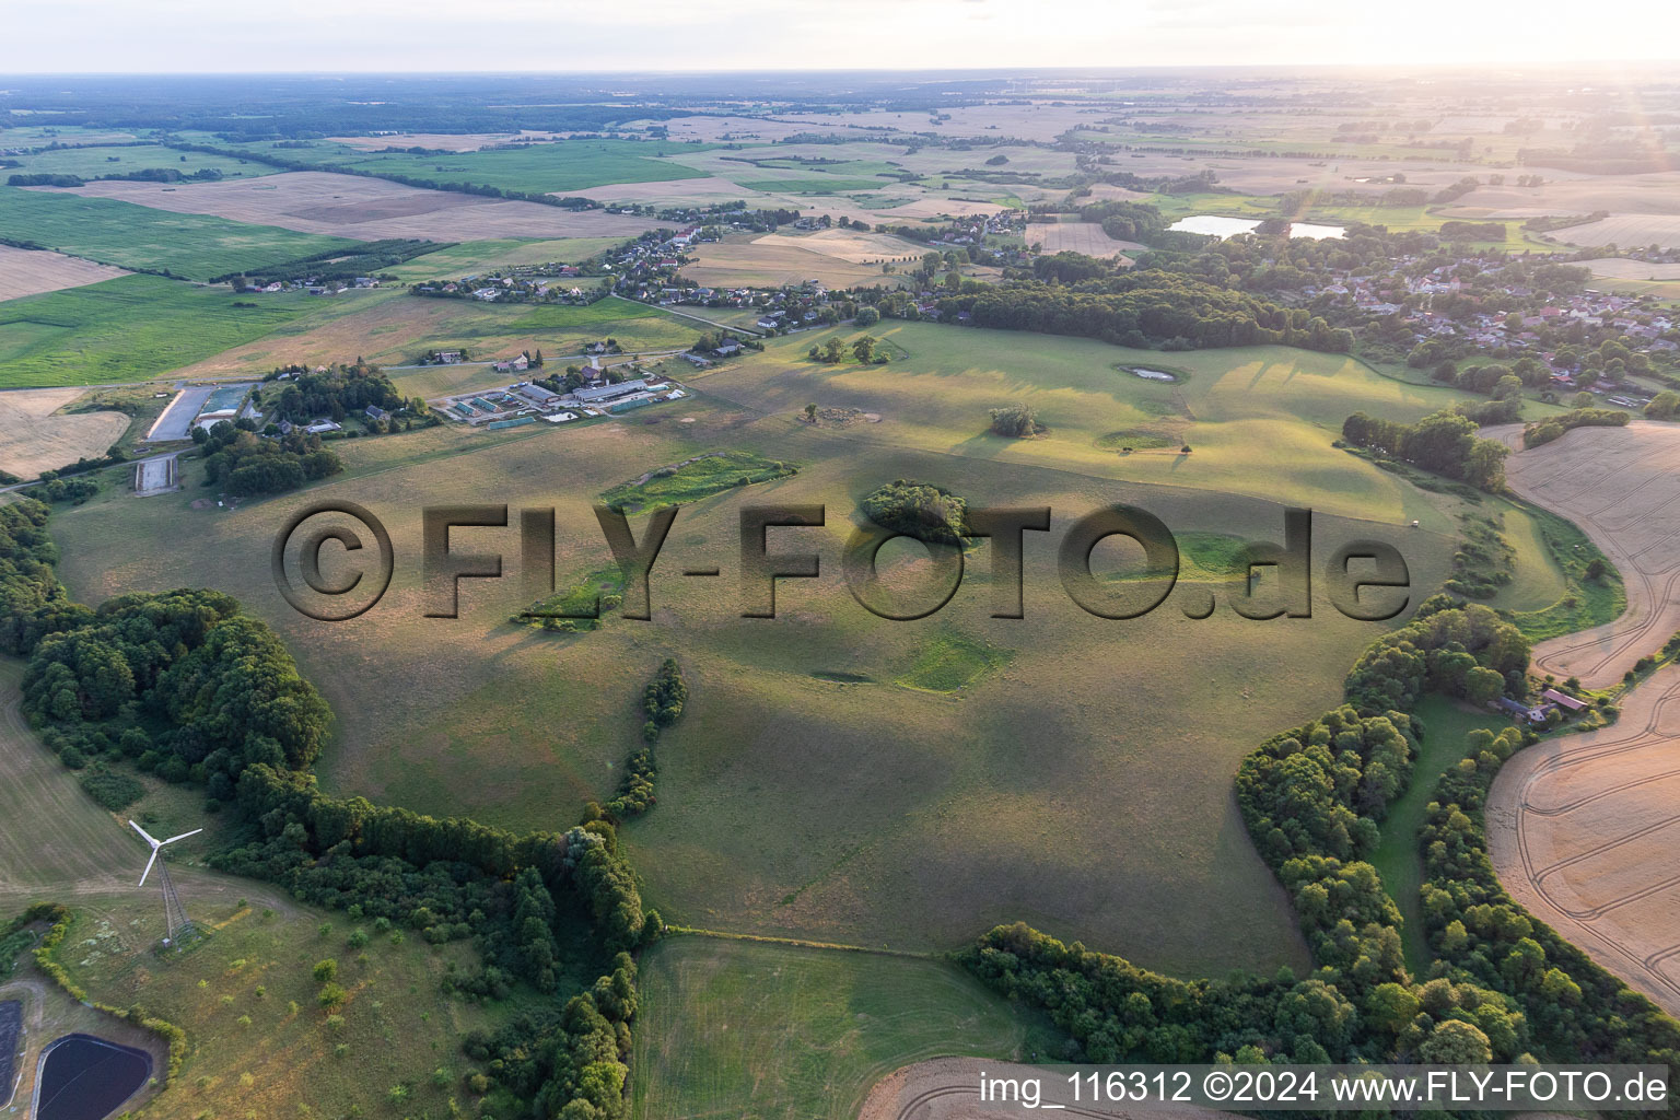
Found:
<svg viewBox="0 0 1680 1120"><path fill-rule="evenodd" d="M388 237L435 242L497 237L635 237L648 225L659 225L600 210L561 210L534 201L486 200L479 195L420 190L388 180L329 171L287 171L255 180L181 183L173 188L102 180L66 190L175 213L212 213L235 222L363 242Z"/></svg>

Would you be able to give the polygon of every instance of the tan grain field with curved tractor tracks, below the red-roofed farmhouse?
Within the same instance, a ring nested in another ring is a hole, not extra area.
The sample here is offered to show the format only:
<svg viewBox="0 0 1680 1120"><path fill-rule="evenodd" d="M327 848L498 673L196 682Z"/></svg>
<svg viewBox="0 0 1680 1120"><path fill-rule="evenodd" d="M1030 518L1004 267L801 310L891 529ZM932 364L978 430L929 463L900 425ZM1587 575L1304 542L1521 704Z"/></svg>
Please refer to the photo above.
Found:
<svg viewBox="0 0 1680 1120"><path fill-rule="evenodd" d="M1601 966L1680 1014L1680 667L1620 722L1515 754L1487 804L1505 890Z"/></svg>

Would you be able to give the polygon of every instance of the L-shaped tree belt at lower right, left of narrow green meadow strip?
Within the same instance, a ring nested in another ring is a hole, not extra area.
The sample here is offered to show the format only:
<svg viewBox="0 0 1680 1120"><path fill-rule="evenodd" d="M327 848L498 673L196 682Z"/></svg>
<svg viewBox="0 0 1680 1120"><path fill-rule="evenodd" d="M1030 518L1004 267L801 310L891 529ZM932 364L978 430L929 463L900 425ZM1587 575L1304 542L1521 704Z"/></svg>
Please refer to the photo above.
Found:
<svg viewBox="0 0 1680 1120"><path fill-rule="evenodd" d="M1421 687L1463 693L1477 670L1504 680L1514 663L1520 677L1527 648L1512 626L1487 608L1433 596L1361 658L1347 704L1243 761L1238 804L1295 905L1317 964L1310 977L1284 969L1186 982L1025 925L991 930L963 962L1043 1006L1075 1039L1067 1056L1087 1061L1520 1058L1534 1046L1522 999L1440 966L1428 981L1408 974L1399 912L1361 858L1410 777L1423 729L1408 709Z"/></svg>

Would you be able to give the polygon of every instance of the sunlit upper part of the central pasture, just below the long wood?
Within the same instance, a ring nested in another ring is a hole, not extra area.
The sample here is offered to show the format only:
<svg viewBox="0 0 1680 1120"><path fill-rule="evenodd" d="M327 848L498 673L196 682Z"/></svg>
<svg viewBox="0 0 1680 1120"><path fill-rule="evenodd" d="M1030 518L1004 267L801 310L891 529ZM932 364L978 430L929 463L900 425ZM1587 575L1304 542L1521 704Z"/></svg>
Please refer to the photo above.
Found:
<svg viewBox="0 0 1680 1120"><path fill-rule="evenodd" d="M1342 421L1361 408L1418 420L1465 393L1404 385L1364 364L1282 348L1236 348L1173 354L1188 371L1178 385L1147 381L1121 366L1156 368L1161 354L1085 339L931 324L880 324L874 334L907 356L885 366L827 366L805 358L830 334L773 341L763 356L714 373L699 385L754 410L790 418L808 401L880 413L869 438L966 458L998 458L1095 477L1161 482L1268 500L1310 504L1324 512L1389 524L1421 519L1446 531L1430 495L1331 447ZM986 410L1025 401L1048 433L1008 440L986 432ZM1168 447L1121 455L1107 437L1159 430ZM864 438L864 437L860 437ZM1179 455L1179 443L1193 447Z"/></svg>

